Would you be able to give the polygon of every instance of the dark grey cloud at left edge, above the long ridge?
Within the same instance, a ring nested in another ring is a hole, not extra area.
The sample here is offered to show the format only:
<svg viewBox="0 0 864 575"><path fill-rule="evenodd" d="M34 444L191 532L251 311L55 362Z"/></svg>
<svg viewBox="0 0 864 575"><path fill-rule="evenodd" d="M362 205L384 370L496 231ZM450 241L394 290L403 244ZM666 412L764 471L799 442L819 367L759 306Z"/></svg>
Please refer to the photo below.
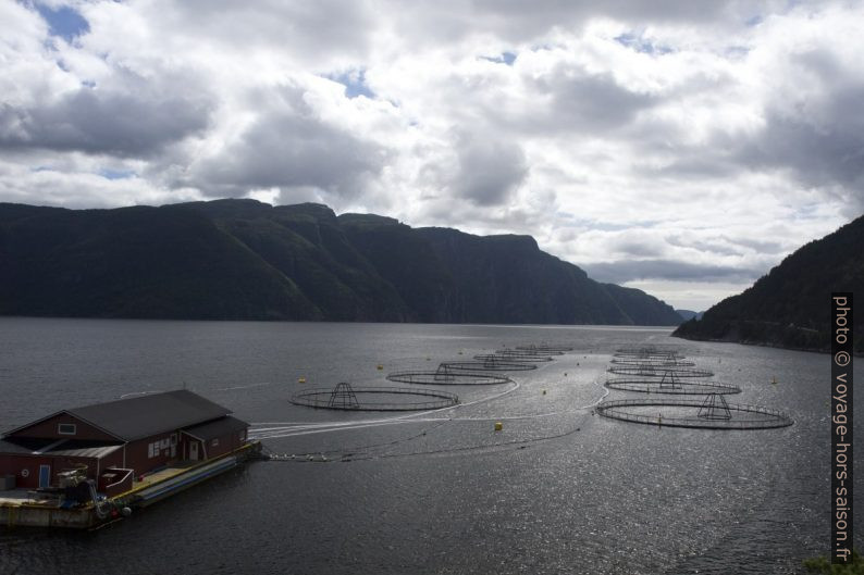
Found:
<svg viewBox="0 0 864 575"><path fill-rule="evenodd" d="M182 97L82 88L46 107L0 104L0 148L148 157L203 130L208 116Z"/></svg>

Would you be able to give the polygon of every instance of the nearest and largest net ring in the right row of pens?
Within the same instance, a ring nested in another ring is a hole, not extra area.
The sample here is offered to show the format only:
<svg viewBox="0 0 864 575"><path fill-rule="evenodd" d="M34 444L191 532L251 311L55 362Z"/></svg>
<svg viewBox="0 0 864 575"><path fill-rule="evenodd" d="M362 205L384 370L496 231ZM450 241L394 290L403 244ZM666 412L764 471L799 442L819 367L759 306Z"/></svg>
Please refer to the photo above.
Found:
<svg viewBox="0 0 864 575"><path fill-rule="evenodd" d="M604 417L663 427L772 429L794 423L792 417L781 411L760 405L727 403L718 393L711 393L699 400L619 399L604 401L595 409Z"/></svg>

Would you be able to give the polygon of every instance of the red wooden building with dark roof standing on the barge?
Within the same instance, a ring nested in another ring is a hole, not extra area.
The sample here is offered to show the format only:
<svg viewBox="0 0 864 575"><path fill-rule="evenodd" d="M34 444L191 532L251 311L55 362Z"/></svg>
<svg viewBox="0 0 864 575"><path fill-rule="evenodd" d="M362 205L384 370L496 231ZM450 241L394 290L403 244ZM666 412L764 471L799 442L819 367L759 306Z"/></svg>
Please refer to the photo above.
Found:
<svg viewBox="0 0 864 575"><path fill-rule="evenodd" d="M248 427L185 389L63 410L0 438L0 477L14 475L16 487L34 489L86 465L104 488L124 475L119 471L137 477L172 462L224 455L246 442Z"/></svg>

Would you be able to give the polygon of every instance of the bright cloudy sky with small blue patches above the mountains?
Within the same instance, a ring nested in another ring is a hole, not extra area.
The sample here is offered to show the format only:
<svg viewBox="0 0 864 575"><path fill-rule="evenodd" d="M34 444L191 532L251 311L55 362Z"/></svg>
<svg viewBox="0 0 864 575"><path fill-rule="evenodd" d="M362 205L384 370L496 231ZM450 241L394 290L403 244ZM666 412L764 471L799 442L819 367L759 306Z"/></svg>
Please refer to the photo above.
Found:
<svg viewBox="0 0 864 575"><path fill-rule="evenodd" d="M0 201L531 234L702 310L864 212L860 2L0 0Z"/></svg>

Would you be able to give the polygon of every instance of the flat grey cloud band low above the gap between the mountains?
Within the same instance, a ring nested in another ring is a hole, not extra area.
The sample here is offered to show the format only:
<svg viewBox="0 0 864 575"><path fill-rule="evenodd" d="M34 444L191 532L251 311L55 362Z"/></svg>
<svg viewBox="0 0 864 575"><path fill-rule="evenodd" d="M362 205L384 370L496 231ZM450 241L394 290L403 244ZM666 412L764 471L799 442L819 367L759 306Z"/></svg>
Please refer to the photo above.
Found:
<svg viewBox="0 0 864 575"><path fill-rule="evenodd" d="M704 265L674 260L617 261L584 264L581 267L592 278L614 284L634 279L746 283L756 279L763 273L728 265Z"/></svg>

